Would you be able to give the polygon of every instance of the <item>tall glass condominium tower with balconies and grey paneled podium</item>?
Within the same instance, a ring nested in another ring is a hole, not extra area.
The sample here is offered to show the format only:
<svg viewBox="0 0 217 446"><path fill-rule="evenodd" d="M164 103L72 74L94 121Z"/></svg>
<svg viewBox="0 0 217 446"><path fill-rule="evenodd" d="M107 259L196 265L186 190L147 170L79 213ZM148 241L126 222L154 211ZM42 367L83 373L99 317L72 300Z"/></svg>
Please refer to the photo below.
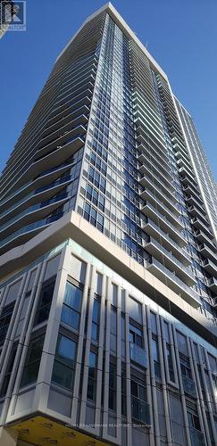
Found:
<svg viewBox="0 0 217 446"><path fill-rule="evenodd" d="M216 185L112 4L57 58L0 194L0 445L216 445Z"/></svg>

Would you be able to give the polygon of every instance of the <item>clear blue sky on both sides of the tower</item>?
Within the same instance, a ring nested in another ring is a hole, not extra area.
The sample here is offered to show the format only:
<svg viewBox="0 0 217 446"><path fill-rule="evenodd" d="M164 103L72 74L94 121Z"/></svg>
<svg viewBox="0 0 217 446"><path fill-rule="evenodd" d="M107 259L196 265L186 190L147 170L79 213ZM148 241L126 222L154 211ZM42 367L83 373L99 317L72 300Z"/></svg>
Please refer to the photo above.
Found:
<svg viewBox="0 0 217 446"><path fill-rule="evenodd" d="M0 170L54 60L103 0L27 0L27 31L0 40ZM217 178L216 0L113 0L192 114Z"/></svg>

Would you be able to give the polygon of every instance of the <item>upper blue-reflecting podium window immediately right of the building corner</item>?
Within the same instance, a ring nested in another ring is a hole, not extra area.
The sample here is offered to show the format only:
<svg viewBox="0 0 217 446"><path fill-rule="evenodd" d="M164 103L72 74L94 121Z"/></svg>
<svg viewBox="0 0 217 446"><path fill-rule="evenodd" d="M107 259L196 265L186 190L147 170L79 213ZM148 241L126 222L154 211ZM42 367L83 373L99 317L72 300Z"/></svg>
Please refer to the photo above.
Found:
<svg viewBox="0 0 217 446"><path fill-rule="evenodd" d="M82 301L82 290L71 282L66 283L63 311L61 320L72 326L76 330L79 329L80 308Z"/></svg>

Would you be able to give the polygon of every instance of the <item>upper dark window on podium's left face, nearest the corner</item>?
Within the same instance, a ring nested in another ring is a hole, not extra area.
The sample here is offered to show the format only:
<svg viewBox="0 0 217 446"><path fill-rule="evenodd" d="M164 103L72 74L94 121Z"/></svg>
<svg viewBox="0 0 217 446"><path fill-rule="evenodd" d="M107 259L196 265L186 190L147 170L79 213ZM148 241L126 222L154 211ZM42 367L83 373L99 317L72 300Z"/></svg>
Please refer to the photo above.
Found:
<svg viewBox="0 0 217 446"><path fill-rule="evenodd" d="M41 324L41 322L44 322L44 320L48 319L49 317L51 302L54 294L54 285L54 280L49 284L46 283L42 285L38 300L38 309L34 320L34 326Z"/></svg>

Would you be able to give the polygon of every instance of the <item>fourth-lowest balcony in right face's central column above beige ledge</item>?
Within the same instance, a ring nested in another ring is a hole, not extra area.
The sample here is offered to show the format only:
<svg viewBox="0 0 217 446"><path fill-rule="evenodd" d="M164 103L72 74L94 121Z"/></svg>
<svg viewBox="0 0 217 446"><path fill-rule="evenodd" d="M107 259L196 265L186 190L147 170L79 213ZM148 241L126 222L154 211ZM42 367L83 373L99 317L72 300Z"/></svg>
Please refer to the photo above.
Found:
<svg viewBox="0 0 217 446"><path fill-rule="evenodd" d="M154 221L164 232L171 235L171 238L180 246L185 246L186 241L183 235L177 230L171 222L161 212L157 211L152 204L145 202L141 212Z"/></svg>

